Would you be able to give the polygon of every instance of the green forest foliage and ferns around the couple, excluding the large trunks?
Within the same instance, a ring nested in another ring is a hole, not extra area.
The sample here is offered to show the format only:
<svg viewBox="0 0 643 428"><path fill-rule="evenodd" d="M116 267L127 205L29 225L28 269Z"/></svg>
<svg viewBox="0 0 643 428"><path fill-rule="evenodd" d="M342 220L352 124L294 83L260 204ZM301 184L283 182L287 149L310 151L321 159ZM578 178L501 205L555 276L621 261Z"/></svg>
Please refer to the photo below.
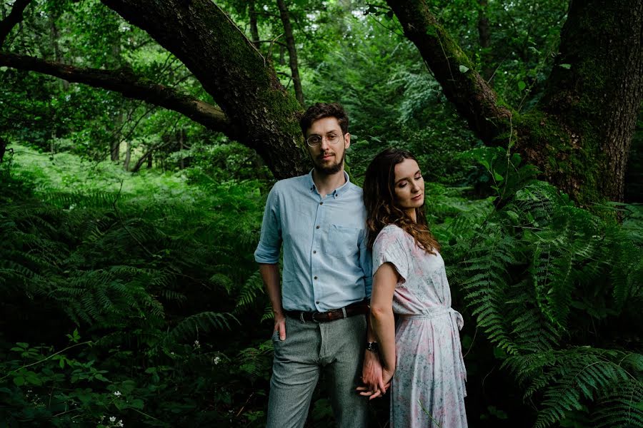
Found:
<svg viewBox="0 0 643 428"><path fill-rule="evenodd" d="M642 425L643 121L628 203L579 208L468 130L385 4L286 3L306 104L349 112L352 180L388 146L419 160L465 319L469 424ZM528 112L567 2L428 3L502 100ZM0 4L4 18L14 2ZM276 2L221 7L252 39L256 20L258 49L292 90ZM99 1L37 0L24 15L5 48L131 69L209 99ZM261 158L117 93L4 67L0 82L0 421L262 426L272 322L252 254L274 178ZM371 411L384 427L386 400ZM309 419L332 421L323 385Z"/></svg>

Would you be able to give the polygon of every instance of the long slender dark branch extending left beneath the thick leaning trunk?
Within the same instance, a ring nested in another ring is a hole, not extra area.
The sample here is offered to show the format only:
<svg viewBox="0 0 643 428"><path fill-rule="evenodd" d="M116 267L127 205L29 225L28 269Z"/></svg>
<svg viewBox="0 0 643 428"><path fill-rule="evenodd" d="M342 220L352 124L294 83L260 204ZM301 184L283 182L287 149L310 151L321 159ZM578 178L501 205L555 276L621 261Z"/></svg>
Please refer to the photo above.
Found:
<svg viewBox="0 0 643 428"><path fill-rule="evenodd" d="M186 95L170 86L159 85L139 78L129 68L100 70L70 66L46 61L32 56L0 53L0 66L49 74L75 83L85 83L96 88L115 91L128 98L176 111L210 129L236 138L236 131L220 108Z"/></svg>

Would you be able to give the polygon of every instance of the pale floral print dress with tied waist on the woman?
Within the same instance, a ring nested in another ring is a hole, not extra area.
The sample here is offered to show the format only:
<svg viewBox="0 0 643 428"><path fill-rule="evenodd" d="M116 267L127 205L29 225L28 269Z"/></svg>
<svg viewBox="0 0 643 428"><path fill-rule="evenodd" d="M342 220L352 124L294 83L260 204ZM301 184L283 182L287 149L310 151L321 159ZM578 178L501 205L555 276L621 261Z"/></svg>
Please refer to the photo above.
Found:
<svg viewBox="0 0 643 428"><path fill-rule="evenodd" d="M392 263L401 276L393 295L397 363L391 384L391 428L467 427L459 330L444 260L388 225L373 246L373 274Z"/></svg>

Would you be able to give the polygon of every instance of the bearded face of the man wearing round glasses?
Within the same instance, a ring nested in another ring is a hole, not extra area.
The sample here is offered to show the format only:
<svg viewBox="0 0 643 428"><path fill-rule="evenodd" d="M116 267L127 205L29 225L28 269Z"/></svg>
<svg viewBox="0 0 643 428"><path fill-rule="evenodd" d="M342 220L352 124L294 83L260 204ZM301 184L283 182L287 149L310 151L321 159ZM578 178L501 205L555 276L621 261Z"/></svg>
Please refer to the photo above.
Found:
<svg viewBox="0 0 643 428"><path fill-rule="evenodd" d="M346 149L351 145L351 134L342 135L342 128L337 118L328 117L314 121L306 133L306 138L310 136L321 137L321 143L313 147L308 146L308 153L313 160L315 170L324 175L341 171ZM337 143L330 143L333 139L337 139Z"/></svg>

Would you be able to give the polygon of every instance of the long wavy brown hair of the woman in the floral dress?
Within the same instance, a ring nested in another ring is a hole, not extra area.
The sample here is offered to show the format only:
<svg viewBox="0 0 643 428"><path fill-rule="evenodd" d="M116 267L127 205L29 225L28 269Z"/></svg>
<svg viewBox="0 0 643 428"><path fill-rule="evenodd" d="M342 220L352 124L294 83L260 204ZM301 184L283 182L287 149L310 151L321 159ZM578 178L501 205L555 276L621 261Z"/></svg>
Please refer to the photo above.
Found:
<svg viewBox="0 0 643 428"><path fill-rule="evenodd" d="M429 226L427 215L424 213L424 204L415 208L417 222L399 208L395 198L395 165L404 159L417 159L408 151L398 148L387 148L379 153L369 167L364 177L364 205L367 209L367 228L369 230L368 248L373 249L375 238L387 225L397 225L409 233L415 243L427 253L435 254L440 245L435 240Z"/></svg>

